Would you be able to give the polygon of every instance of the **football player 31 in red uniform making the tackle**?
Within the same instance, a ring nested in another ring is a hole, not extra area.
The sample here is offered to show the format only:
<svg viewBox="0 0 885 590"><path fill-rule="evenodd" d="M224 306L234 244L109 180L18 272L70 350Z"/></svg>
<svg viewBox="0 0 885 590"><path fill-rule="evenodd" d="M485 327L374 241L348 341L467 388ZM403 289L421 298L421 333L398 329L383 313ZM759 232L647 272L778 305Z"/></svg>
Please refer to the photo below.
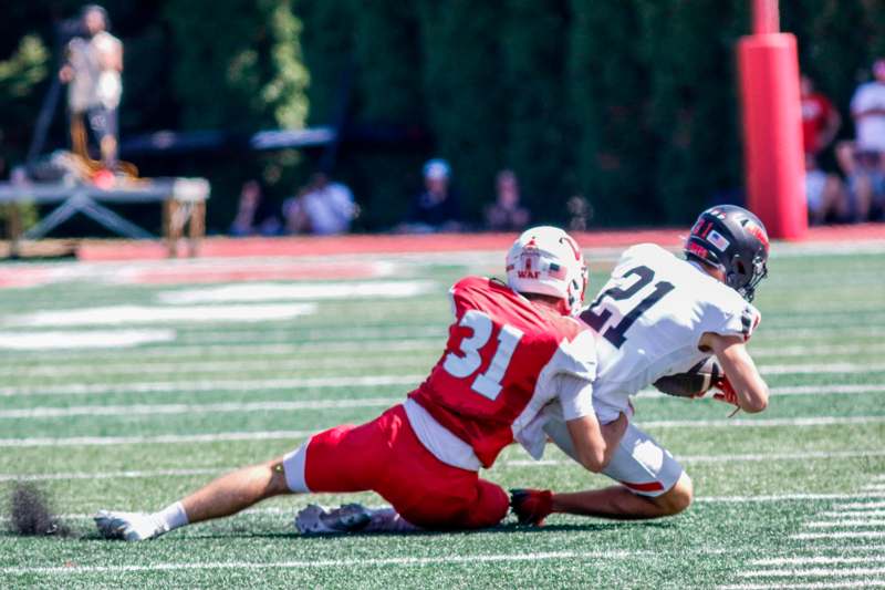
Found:
<svg viewBox="0 0 885 590"><path fill-rule="evenodd" d="M468 277L450 290L446 351L406 401L362 426L319 433L283 457L225 475L153 514L100 510L108 538L143 540L238 513L281 494L374 490L392 508L312 505L302 532L481 528L498 524L508 495L481 479L503 447L543 449L541 410L563 408L579 460L601 470L626 417L601 427L592 396L593 332L572 318L586 288L577 244L564 231L524 231L507 256L507 283Z"/></svg>

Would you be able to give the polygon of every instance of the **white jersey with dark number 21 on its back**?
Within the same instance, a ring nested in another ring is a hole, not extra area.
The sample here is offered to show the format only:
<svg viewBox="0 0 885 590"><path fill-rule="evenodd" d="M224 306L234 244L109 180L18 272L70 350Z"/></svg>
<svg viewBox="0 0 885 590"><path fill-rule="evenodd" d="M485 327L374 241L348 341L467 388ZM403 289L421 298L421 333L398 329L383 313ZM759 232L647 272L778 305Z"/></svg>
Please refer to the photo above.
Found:
<svg viewBox="0 0 885 590"><path fill-rule="evenodd" d="M628 248L582 313L597 338L593 403L605 424L658 377L687 371L709 352L706 332L749 340L759 311L696 263L654 244Z"/></svg>

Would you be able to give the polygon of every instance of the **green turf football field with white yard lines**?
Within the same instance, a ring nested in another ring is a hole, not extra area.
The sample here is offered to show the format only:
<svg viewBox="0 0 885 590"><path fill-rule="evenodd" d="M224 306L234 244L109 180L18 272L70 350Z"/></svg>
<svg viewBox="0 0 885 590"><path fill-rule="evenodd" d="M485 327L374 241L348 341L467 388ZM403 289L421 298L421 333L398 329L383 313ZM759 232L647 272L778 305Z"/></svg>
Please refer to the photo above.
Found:
<svg viewBox="0 0 885 590"><path fill-rule="evenodd" d="M696 503L673 519L551 517L542 529L509 519L480 532L301 538L292 517L309 500L292 497L145 544L98 538L88 519L98 508L157 509L306 433L402 400L441 351L449 284L493 272L500 258L393 258L394 272L378 280L421 286L408 297L189 303L269 317L315 306L252 322L103 323L121 306L180 310L170 291L216 286L81 280L0 290L0 343L119 330L157 340L0 348L0 494L17 479L37 483L74 532L0 534L0 588L885 586L885 246L836 255L774 247L751 343L773 393L763 414L728 420L714 401L636 400L636 421L695 482ZM611 260L590 258L595 293ZM486 475L504 487L606 485L552 447L541 463L510 447ZM346 499L381 504L368 494Z"/></svg>

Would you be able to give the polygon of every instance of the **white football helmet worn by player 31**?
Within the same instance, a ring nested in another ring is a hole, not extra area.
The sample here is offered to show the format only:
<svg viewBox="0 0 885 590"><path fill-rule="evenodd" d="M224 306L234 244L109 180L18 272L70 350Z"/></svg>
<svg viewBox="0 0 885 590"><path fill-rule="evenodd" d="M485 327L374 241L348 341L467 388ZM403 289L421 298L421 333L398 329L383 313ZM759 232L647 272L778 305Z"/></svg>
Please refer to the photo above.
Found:
<svg viewBox="0 0 885 590"><path fill-rule="evenodd" d="M587 287L584 255L558 227L527 229L507 252L507 284L521 293L560 298L565 313L576 313Z"/></svg>

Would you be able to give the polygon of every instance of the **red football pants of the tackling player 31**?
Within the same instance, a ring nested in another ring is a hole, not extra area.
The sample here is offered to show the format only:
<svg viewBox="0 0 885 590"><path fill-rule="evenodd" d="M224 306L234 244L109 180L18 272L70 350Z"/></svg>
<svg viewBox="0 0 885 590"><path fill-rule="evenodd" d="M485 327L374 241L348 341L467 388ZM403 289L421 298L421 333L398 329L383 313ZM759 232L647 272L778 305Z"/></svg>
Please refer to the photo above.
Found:
<svg viewBox="0 0 885 590"><path fill-rule="evenodd" d="M490 527L507 516L509 505L500 486L427 451L402 405L362 426L314 435L306 447L304 480L311 491L376 491L421 528Z"/></svg>

